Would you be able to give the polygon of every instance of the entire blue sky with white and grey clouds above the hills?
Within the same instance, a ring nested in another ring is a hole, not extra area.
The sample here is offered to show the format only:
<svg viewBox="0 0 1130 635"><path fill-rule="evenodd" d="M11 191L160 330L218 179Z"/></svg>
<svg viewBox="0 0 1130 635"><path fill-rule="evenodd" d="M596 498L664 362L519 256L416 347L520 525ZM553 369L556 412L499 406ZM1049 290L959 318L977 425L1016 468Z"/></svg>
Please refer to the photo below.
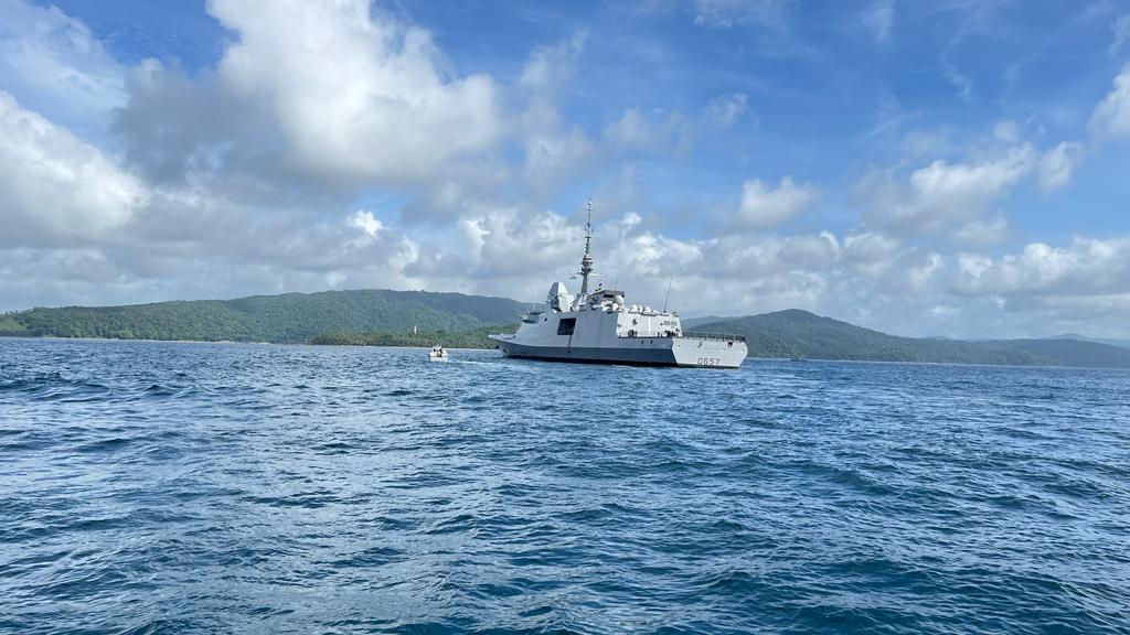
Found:
<svg viewBox="0 0 1130 635"><path fill-rule="evenodd" d="M1130 2L0 0L0 310L598 267L1130 336ZM7 234L7 235L5 235ZM676 303L676 301L678 301Z"/></svg>

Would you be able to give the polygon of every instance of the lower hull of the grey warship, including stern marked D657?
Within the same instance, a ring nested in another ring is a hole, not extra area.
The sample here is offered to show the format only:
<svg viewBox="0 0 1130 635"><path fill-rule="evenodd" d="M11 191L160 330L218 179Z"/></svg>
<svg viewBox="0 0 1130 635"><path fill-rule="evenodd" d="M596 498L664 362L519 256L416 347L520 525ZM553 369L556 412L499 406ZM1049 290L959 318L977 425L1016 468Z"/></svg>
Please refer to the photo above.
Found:
<svg viewBox="0 0 1130 635"><path fill-rule="evenodd" d="M546 362L737 368L746 343L699 338L621 338L619 346L576 347L524 343L514 336L490 336L507 357Z"/></svg>

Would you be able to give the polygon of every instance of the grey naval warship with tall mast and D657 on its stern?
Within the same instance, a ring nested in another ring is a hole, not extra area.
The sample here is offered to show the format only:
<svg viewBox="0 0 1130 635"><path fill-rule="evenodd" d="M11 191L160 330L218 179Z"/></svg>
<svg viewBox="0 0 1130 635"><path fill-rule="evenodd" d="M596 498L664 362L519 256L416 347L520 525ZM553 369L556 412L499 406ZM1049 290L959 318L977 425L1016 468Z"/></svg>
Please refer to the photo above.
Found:
<svg viewBox="0 0 1130 635"><path fill-rule="evenodd" d="M507 357L554 362L737 368L746 358L740 336L684 333L675 312L626 304L624 292L589 292L592 261L592 201L586 206L581 290L549 287L545 308L525 313L513 334L492 334Z"/></svg>

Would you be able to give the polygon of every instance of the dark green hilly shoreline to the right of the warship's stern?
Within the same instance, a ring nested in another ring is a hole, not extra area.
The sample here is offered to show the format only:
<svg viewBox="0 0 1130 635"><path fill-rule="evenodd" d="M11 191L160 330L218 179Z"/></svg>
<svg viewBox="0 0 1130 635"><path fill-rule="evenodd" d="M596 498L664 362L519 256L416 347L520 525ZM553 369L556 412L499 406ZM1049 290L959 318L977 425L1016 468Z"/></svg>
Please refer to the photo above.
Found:
<svg viewBox="0 0 1130 635"><path fill-rule="evenodd" d="M901 338L799 310L732 318L695 330L745 336L750 357L1130 368L1130 350L1103 343Z"/></svg>

